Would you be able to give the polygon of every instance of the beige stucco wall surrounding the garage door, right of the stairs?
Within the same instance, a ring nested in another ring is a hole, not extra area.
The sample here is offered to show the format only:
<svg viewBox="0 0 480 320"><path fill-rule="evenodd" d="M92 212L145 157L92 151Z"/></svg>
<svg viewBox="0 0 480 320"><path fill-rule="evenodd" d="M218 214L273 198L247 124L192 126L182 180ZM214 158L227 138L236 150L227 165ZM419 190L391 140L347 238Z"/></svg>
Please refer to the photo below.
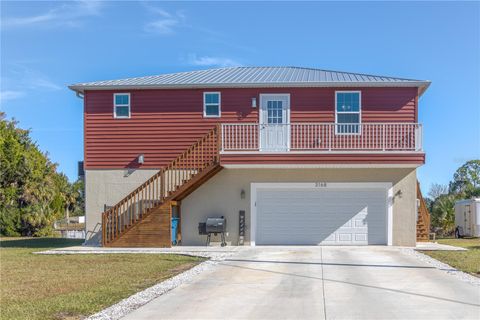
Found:
<svg viewBox="0 0 480 320"><path fill-rule="evenodd" d="M182 201L183 245L204 245L198 223L207 216L227 218L227 241L238 241L239 210L246 213L246 244L250 241L252 182L391 182L393 184L393 245L414 246L416 237L415 169L224 169ZM245 198L241 199L241 190Z"/></svg>

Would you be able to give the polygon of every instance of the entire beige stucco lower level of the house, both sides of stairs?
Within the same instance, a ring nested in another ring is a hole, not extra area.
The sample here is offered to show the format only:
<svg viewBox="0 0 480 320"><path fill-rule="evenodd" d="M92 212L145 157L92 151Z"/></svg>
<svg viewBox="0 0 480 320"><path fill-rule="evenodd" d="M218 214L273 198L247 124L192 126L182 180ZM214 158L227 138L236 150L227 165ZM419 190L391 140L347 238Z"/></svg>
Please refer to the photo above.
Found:
<svg viewBox="0 0 480 320"><path fill-rule="evenodd" d="M104 205L114 205L129 192L155 174L157 170L87 170L86 226L87 241L98 243L101 212ZM204 245L198 235L198 223L207 216L227 218L227 242L238 244L239 211L245 211L245 244L251 235L252 183L391 183L392 244L415 246L416 242L416 171L412 168L329 168L329 169L224 169L200 186L181 203L183 245ZM243 191L243 192L242 192ZM213 239L218 240L217 238Z"/></svg>

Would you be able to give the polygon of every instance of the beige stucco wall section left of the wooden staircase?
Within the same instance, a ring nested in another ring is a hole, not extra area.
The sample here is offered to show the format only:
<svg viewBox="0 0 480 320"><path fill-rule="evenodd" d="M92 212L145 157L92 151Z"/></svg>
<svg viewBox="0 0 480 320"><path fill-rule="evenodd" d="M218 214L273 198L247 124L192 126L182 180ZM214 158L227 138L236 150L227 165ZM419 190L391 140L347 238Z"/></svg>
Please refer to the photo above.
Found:
<svg viewBox="0 0 480 320"><path fill-rule="evenodd" d="M157 171L157 169L85 171L85 226L88 244L100 243L101 214L104 205L115 205Z"/></svg>

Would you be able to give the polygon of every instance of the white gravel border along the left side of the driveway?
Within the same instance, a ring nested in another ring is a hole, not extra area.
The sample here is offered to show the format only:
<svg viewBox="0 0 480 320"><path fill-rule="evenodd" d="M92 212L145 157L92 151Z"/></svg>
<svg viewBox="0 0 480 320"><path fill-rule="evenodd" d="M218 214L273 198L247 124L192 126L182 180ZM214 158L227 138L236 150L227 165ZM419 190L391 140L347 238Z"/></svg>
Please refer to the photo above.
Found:
<svg viewBox="0 0 480 320"><path fill-rule="evenodd" d="M139 253L145 253L145 252L139 252ZM158 298L161 295L169 292L170 290L175 289L181 284L192 281L200 273L212 269L215 265L218 264L219 261L224 260L226 257L231 256L234 253L236 252L192 252L192 251L169 252L167 254L180 254L180 255L183 254L183 255L191 255L191 256L197 256L197 257L206 257L206 258L210 258L210 260L204 261L196 265L195 267L187 271L184 271L180 274L177 274L176 276L169 278L165 281L162 281L150 288L137 292L131 295L130 297L125 298L120 302L89 316L86 319L87 320L120 319L126 316L127 314L129 314L130 312L140 308L144 304L147 304L148 302L152 301L153 299ZM44 254L61 254L61 253L57 251L55 253L44 253ZM73 253L68 252L67 254L73 254ZM162 252L162 254L164 254L164 252Z"/></svg>

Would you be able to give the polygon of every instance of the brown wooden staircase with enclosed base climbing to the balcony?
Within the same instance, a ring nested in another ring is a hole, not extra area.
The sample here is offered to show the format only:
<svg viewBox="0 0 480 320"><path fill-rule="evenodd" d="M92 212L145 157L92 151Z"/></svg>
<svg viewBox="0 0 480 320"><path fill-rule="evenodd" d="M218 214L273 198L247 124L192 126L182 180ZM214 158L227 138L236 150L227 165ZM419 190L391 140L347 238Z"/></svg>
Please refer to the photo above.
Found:
<svg viewBox="0 0 480 320"><path fill-rule="evenodd" d="M219 172L220 126L102 213L105 247L170 247L172 207Z"/></svg>

